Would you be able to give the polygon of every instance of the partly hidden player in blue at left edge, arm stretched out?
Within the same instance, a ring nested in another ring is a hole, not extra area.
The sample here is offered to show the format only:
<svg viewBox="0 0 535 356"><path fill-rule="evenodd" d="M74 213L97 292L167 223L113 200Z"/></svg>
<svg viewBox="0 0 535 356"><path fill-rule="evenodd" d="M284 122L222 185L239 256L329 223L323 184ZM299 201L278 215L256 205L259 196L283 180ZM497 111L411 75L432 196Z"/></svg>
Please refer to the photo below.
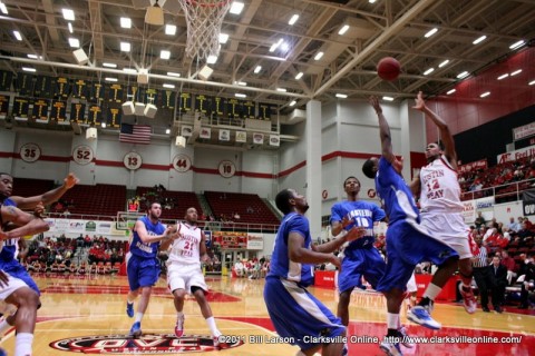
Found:
<svg viewBox="0 0 535 356"><path fill-rule="evenodd" d="M19 197L11 196L13 190L13 177L11 177L9 174L0 172L0 202L2 202L4 206L18 207L20 209L36 209L39 204L49 205L54 201L57 201L64 194L67 192L67 190L72 188L78 182L79 179L74 174L69 174L64 179L64 185L56 189L49 190L39 196ZM10 276L23 280L28 287L33 289L39 296L40 291L36 283L30 277L27 269L17 260L16 254L18 247L20 247L21 250L27 248L25 239L20 238L20 236L4 241L3 248L0 251L0 269L7 271ZM14 319L16 315L12 315L3 318L0 322L0 335L14 325Z"/></svg>

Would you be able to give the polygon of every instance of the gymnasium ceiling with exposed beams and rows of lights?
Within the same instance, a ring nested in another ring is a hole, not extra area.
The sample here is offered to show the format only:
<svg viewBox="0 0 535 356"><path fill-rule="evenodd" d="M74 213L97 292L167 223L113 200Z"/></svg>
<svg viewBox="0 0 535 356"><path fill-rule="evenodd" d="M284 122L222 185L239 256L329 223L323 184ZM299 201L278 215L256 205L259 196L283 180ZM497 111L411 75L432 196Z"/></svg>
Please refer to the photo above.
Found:
<svg viewBox="0 0 535 356"><path fill-rule="evenodd" d="M154 1L1 0L8 14L0 12L0 69L17 72L33 67L37 73L94 79L115 75L126 83L136 77L128 77L124 68L148 68L155 88L166 82L176 90L211 96L241 92L288 113L292 100L299 108L311 98L338 100L337 93L352 99L370 95L399 99L418 90L444 93L463 71L477 72L513 53L513 43L525 40L524 46L533 46L535 39L533 0L241 0L243 11L224 18L222 32L230 38L211 66L214 73L207 85L196 77L204 62L184 55L187 29L177 0L159 1L165 23L177 28L174 36L145 23L146 8ZM72 33L64 8L75 12ZM291 26L294 13L299 19ZM132 19L130 29L120 27L121 17ZM343 24L349 30L339 34ZM437 32L426 38L434 28ZM481 36L486 39L474 44ZM76 63L69 38L80 41L89 65ZM283 43L271 52L280 39ZM120 41L130 42L130 52L120 51ZM168 50L171 58L160 59L160 50ZM315 60L320 51L324 55ZM376 73L377 62L387 56L402 63L402 75L392 82ZM117 68L103 68L104 62ZM255 73L257 66L262 70ZM429 68L435 70L425 75Z"/></svg>

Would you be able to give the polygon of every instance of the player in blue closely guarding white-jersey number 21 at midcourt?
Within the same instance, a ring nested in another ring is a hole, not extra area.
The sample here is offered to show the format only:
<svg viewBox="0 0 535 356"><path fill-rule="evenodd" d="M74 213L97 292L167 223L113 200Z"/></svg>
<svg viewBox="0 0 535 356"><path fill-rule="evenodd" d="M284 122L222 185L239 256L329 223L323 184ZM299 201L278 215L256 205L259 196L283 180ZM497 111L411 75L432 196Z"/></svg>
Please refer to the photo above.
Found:
<svg viewBox="0 0 535 356"><path fill-rule="evenodd" d="M126 273L128 275L128 293L126 314L134 317L134 300L140 294L130 335L142 335L142 319L147 310L153 286L159 278L159 261L157 258L159 241L173 238L176 227L165 227L159 221L162 205L157 201L149 202L147 215L137 219L133 229L130 250L126 256Z"/></svg>

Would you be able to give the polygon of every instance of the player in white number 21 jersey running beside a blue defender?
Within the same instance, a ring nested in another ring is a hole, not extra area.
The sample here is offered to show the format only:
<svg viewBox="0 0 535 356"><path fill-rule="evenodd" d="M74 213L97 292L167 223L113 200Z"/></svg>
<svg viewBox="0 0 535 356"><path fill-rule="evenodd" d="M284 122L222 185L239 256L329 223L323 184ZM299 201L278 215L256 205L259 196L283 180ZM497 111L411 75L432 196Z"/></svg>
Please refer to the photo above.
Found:
<svg viewBox="0 0 535 356"><path fill-rule="evenodd" d="M175 335L184 335L184 299L187 294L195 297L201 307L201 313L206 319L214 346L222 346L218 337L222 335L215 325L212 308L206 300L208 291L204 275L201 269L201 260L207 263L210 257L206 253L206 237L197 226L197 209L186 210L185 222L177 224L177 236L171 241L162 243L160 250L168 250L167 259L167 285L174 297L176 308Z"/></svg>

